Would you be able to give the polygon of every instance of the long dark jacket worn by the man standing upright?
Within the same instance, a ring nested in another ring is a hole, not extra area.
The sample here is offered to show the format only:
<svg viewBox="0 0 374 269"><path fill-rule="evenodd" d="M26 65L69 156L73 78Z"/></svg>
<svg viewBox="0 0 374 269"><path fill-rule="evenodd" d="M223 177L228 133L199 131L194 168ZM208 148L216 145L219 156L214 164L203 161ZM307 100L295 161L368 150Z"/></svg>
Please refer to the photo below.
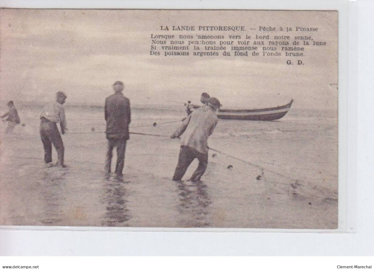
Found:
<svg viewBox="0 0 374 269"><path fill-rule="evenodd" d="M107 138L129 139L131 122L130 100L116 92L105 99L105 120L107 121Z"/></svg>

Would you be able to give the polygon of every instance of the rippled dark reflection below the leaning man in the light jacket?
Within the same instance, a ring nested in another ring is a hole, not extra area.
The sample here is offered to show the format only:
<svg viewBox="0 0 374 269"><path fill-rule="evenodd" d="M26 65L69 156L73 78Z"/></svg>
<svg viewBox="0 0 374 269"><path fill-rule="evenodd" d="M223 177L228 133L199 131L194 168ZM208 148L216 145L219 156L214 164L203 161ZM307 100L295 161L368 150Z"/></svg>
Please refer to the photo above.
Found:
<svg viewBox="0 0 374 269"><path fill-rule="evenodd" d="M209 205L212 203L208 195L208 187L202 182L179 182L178 193L180 203L180 227L210 227Z"/></svg>

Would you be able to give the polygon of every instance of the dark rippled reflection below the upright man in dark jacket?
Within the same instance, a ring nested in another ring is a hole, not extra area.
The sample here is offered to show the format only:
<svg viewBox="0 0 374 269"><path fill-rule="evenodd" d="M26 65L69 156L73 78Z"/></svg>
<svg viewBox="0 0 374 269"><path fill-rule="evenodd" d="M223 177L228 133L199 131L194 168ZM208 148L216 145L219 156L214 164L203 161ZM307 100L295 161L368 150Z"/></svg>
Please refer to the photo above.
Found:
<svg viewBox="0 0 374 269"><path fill-rule="evenodd" d="M105 205L105 215L101 221L102 226L129 226L127 221L131 218L127 209L125 196L128 195L122 176L104 178L104 194L100 201Z"/></svg>

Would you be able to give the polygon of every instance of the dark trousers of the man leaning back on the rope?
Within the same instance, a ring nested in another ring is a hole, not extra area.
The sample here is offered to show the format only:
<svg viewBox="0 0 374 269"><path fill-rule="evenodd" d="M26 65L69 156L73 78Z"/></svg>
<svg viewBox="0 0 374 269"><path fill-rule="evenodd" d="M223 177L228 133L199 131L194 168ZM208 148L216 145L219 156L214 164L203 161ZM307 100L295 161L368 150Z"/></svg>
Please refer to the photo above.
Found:
<svg viewBox="0 0 374 269"><path fill-rule="evenodd" d="M191 181L199 181L202 175L205 173L206 166L208 165L208 153L204 154L198 152L197 150L188 147L188 146L181 146L181 150L179 152L178 164L175 168L173 180L180 181L184 174L187 171L188 166L190 166L191 162L197 158L199 160L199 165L197 166L195 172L191 176Z"/></svg>

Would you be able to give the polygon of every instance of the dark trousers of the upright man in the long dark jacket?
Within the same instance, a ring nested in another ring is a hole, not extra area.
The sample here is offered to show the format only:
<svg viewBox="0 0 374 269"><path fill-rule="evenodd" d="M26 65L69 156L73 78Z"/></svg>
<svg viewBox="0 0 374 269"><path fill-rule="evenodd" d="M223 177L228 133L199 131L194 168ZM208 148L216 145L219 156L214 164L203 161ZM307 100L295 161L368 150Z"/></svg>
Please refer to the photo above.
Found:
<svg viewBox="0 0 374 269"><path fill-rule="evenodd" d="M126 150L126 138L107 138L108 140L108 150L107 150L107 159L105 161L105 172L111 172L111 163L113 157L113 149L117 147L117 162L116 162L116 171L117 175L122 174L123 165L125 164L125 150Z"/></svg>

